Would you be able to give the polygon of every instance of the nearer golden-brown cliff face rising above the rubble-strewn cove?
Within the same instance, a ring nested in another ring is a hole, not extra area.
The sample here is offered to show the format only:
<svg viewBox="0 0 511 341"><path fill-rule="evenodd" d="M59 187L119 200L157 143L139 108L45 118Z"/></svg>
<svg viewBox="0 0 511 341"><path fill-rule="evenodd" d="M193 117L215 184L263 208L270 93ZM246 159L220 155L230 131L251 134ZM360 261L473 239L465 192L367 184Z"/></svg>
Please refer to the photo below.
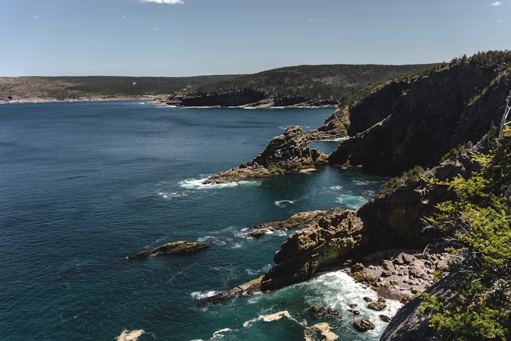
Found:
<svg viewBox="0 0 511 341"><path fill-rule="evenodd" d="M449 171L446 172L446 168ZM429 171L430 177L464 172L461 163L446 163ZM435 205L455 199L447 186L418 179L374 198L357 211L335 212L296 231L281 245L275 265L263 276L263 290L277 289L311 278L315 272L340 268L350 258L361 258L391 248L423 249L439 233L424 231L423 217Z"/></svg>

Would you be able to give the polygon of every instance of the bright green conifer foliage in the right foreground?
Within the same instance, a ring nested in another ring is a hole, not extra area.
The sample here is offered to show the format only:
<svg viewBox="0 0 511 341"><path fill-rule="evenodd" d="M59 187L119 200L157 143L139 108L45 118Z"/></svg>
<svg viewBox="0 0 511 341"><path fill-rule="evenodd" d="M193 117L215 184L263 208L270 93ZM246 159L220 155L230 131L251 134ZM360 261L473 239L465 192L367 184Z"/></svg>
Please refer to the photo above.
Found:
<svg viewBox="0 0 511 341"><path fill-rule="evenodd" d="M452 237L462 282L448 303L425 295L422 311L443 339L510 340L511 209L503 193L511 184L511 129L490 155L474 157L481 171L450 181L458 200L439 204L430 220Z"/></svg>

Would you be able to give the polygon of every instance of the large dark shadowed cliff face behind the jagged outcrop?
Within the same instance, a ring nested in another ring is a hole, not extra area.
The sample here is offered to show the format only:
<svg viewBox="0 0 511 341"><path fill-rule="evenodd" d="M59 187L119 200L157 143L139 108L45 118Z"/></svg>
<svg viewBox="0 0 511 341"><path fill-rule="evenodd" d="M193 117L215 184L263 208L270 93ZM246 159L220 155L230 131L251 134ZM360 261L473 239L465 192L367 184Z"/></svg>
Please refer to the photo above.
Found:
<svg viewBox="0 0 511 341"><path fill-rule="evenodd" d="M509 77L499 70L457 64L428 77L392 82L356 105L338 109L309 138L353 136L331 164L397 175L415 165L431 167L459 144L477 143L500 122ZM333 128L342 126L335 131ZM340 133L340 135L338 135Z"/></svg>

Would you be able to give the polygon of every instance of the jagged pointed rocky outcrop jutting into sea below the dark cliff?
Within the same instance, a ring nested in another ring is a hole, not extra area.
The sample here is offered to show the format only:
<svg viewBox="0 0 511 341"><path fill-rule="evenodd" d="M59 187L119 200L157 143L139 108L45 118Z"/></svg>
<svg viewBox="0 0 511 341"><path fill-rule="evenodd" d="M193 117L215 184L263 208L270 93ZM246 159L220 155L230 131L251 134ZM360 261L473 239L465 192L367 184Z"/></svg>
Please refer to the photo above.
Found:
<svg viewBox="0 0 511 341"><path fill-rule="evenodd" d="M216 174L206 179L204 184L230 183L313 169L325 164L326 158L327 155L318 148L309 149L301 127L296 126L273 138L253 161Z"/></svg>

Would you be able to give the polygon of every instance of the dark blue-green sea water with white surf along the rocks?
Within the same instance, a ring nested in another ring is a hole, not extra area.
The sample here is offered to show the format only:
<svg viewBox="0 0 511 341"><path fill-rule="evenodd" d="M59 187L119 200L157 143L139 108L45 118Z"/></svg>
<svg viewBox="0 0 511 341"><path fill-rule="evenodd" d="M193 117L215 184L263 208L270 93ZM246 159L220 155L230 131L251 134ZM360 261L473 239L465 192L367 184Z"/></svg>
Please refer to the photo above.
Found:
<svg viewBox="0 0 511 341"><path fill-rule="evenodd" d="M301 211L358 208L379 190L381 178L336 167L200 185L252 160L287 126L314 129L332 111L0 105L0 339L115 340L127 330L139 340L304 340L321 322L339 340L378 339L377 314L360 308L358 319L372 316L377 328L358 334L345 312L374 293L342 272L197 304L264 274L291 233L255 240L243 238L244 229ZM336 145L311 147L328 153ZM213 245L192 256L126 259L178 240ZM341 315L316 320L308 313L315 304Z"/></svg>

